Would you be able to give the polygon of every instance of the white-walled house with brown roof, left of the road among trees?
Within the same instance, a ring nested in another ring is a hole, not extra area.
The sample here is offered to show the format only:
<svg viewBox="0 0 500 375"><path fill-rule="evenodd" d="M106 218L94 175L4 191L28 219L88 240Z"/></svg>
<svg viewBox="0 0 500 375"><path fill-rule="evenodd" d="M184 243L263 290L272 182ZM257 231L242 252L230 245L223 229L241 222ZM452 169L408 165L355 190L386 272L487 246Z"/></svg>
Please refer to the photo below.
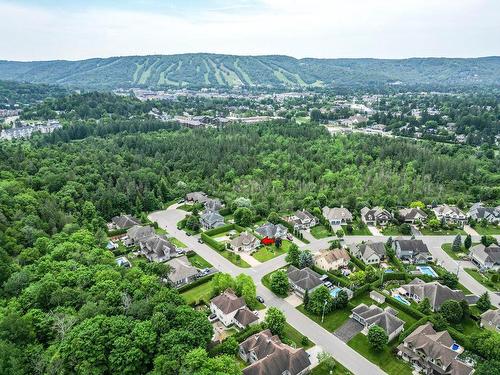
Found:
<svg viewBox="0 0 500 375"><path fill-rule="evenodd" d="M226 327L236 325L239 328L246 328L256 324L259 320L245 304L243 297L238 297L231 289L212 298L210 301L210 311L217 315L217 318Z"/></svg>

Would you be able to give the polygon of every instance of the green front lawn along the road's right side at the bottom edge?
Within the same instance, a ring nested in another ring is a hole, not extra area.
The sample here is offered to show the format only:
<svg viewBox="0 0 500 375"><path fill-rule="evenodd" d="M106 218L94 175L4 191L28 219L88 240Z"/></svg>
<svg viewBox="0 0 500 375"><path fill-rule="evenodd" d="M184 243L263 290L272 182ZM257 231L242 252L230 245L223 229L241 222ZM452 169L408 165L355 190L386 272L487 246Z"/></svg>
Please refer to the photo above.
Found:
<svg viewBox="0 0 500 375"><path fill-rule="evenodd" d="M411 366L392 353L393 348L397 345L397 340L387 345L382 351L374 351L368 343L368 338L362 333L358 333L347 345L388 374L411 375L412 373Z"/></svg>

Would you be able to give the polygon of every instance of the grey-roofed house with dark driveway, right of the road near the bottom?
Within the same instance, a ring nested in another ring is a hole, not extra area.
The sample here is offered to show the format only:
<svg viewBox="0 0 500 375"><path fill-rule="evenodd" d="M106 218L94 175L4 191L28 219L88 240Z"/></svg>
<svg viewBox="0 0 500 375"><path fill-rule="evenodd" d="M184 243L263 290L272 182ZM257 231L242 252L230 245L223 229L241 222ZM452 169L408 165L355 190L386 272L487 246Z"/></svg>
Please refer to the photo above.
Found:
<svg viewBox="0 0 500 375"><path fill-rule="evenodd" d="M378 325L385 331L389 341L391 341L403 331L403 326L405 325L404 320L401 320L396 316L397 311L389 306L385 309L381 309L377 305L371 305L368 307L362 303L351 311L351 318L363 326L363 330L361 332L364 335L368 335L370 327Z"/></svg>

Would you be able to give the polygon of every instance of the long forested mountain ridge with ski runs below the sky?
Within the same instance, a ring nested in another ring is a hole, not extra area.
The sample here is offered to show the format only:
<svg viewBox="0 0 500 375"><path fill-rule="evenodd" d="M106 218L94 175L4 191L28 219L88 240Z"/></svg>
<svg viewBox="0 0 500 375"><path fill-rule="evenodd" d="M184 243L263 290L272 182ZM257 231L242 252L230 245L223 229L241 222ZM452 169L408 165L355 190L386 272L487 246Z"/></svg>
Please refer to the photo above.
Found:
<svg viewBox="0 0 500 375"><path fill-rule="evenodd" d="M0 61L0 79L71 87L500 86L500 57L295 59L208 53Z"/></svg>

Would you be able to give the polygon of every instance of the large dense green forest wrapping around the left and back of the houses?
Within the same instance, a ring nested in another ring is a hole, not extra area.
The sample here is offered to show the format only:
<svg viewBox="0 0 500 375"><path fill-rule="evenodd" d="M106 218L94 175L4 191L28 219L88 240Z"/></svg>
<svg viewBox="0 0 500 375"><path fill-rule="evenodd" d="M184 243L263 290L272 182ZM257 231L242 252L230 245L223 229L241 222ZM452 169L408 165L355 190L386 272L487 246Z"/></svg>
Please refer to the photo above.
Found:
<svg viewBox="0 0 500 375"><path fill-rule="evenodd" d="M200 130L82 122L2 142L0 373L239 373L233 359L206 356L211 326L160 284L164 266L115 265L103 248L113 215L139 215L198 189L226 202L250 198L259 215L498 202L499 167L481 149L331 137L285 121Z"/></svg>

